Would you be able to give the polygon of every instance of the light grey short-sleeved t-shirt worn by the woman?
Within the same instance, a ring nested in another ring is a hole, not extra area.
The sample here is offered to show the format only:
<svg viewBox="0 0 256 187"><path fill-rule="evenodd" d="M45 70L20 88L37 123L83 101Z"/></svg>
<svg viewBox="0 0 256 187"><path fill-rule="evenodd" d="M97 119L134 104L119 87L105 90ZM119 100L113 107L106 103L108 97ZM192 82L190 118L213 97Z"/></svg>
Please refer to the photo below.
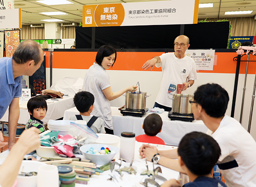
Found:
<svg viewBox="0 0 256 187"><path fill-rule="evenodd" d="M91 114L103 119L105 127L113 130L110 101L102 92L110 86L106 70L94 62L84 77L83 91L88 91L94 96L94 108Z"/></svg>

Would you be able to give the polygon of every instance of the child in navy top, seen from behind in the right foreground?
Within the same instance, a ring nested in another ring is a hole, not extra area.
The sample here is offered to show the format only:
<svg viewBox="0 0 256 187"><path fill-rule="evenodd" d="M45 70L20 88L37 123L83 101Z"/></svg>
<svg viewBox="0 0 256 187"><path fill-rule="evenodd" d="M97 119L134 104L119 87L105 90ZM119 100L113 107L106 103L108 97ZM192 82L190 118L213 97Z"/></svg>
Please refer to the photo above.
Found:
<svg viewBox="0 0 256 187"><path fill-rule="evenodd" d="M212 177L212 168L221 155L218 143L211 136L192 132L186 134L178 147L178 162L189 176L189 183L183 187L227 187ZM175 179L166 181L161 187L181 187Z"/></svg>

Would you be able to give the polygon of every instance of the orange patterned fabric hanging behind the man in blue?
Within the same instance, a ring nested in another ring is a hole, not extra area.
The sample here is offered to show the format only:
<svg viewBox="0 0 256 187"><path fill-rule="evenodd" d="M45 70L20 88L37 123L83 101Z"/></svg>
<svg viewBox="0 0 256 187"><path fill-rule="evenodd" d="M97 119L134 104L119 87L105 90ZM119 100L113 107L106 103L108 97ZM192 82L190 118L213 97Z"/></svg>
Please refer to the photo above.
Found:
<svg viewBox="0 0 256 187"><path fill-rule="evenodd" d="M12 57L17 46L20 44L20 30L4 31L6 57Z"/></svg>

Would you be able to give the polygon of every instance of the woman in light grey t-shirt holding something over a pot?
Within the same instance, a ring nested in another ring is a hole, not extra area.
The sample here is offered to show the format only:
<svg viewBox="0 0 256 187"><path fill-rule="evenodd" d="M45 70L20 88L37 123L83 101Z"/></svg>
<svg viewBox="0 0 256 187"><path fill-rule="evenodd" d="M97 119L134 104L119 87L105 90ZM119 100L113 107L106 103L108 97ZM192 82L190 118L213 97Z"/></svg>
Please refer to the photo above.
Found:
<svg viewBox="0 0 256 187"><path fill-rule="evenodd" d="M102 45L97 52L96 62L88 69L84 77L83 85L83 91L88 91L95 97L94 109L91 114L104 120L105 130L108 134L113 134L110 101L127 91L137 90L137 86L133 85L113 93L106 69L112 67L115 61L116 49L111 45Z"/></svg>

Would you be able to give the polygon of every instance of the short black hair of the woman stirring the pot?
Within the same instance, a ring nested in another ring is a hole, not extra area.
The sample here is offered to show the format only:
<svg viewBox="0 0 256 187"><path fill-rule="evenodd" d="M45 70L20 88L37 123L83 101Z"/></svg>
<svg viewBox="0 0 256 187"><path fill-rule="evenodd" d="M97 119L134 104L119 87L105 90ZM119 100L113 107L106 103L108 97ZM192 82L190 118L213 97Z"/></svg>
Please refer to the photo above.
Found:
<svg viewBox="0 0 256 187"><path fill-rule="evenodd" d="M96 54L96 62L97 64L101 65L102 60L104 57L109 57L111 54L116 54L116 49L113 48L111 45L102 45L97 54ZM116 58L114 60L114 63L116 62ZM114 63L112 64L111 67L113 67ZM101 65L102 66L102 65Z"/></svg>

